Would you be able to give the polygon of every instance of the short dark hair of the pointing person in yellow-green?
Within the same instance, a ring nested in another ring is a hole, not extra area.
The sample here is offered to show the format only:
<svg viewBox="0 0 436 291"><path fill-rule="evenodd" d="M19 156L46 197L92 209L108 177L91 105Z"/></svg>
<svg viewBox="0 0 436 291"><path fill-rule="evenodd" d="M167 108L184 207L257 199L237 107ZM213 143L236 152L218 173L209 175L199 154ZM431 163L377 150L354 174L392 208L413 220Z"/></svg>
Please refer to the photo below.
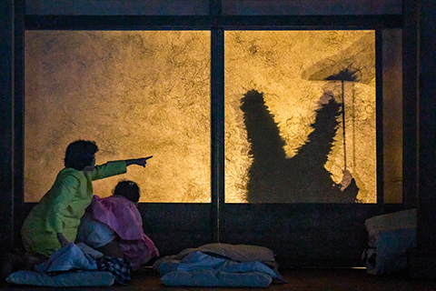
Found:
<svg viewBox="0 0 436 291"><path fill-rule="evenodd" d="M82 171L85 166L93 164L96 152L98 152L98 146L95 145L95 142L76 140L66 147L64 166Z"/></svg>

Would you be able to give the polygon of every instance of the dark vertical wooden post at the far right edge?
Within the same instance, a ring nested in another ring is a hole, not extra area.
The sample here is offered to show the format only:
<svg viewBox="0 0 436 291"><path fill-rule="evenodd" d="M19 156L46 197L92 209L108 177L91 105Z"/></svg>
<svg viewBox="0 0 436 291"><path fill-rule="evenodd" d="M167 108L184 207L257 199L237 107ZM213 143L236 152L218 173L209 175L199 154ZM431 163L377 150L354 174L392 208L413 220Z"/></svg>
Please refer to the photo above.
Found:
<svg viewBox="0 0 436 291"><path fill-rule="evenodd" d="M436 2L418 5L418 216L411 276L436 278ZM407 108L406 108L407 109Z"/></svg>

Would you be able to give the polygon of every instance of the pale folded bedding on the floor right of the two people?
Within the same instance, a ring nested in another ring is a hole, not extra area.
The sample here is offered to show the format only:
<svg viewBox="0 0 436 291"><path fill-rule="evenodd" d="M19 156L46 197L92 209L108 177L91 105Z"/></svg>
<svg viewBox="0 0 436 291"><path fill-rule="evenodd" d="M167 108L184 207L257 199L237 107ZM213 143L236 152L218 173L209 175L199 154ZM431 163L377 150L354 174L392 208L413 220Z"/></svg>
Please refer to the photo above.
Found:
<svg viewBox="0 0 436 291"><path fill-rule="evenodd" d="M163 256L154 270L166 286L263 287L286 283L271 249L263 246L209 244Z"/></svg>

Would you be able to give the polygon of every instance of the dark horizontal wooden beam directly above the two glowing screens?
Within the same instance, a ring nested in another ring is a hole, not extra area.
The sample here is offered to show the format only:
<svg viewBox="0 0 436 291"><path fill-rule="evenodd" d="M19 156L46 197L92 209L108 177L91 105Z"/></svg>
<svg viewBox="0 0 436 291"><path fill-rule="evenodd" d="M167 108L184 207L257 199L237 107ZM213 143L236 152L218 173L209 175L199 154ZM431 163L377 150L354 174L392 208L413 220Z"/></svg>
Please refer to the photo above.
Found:
<svg viewBox="0 0 436 291"><path fill-rule="evenodd" d="M205 30L401 28L401 15L150 16L26 15L26 30Z"/></svg>

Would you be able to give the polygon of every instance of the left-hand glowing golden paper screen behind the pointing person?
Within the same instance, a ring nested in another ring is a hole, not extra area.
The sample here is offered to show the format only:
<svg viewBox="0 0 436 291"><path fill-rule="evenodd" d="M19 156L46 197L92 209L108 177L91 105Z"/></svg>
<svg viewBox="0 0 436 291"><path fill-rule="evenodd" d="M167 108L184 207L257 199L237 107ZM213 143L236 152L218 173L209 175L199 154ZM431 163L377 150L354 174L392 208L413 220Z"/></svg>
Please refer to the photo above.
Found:
<svg viewBox="0 0 436 291"><path fill-rule="evenodd" d="M154 157L94 182L110 196L132 179L142 202L210 202L210 32L26 31L25 201L94 140L97 164Z"/></svg>

